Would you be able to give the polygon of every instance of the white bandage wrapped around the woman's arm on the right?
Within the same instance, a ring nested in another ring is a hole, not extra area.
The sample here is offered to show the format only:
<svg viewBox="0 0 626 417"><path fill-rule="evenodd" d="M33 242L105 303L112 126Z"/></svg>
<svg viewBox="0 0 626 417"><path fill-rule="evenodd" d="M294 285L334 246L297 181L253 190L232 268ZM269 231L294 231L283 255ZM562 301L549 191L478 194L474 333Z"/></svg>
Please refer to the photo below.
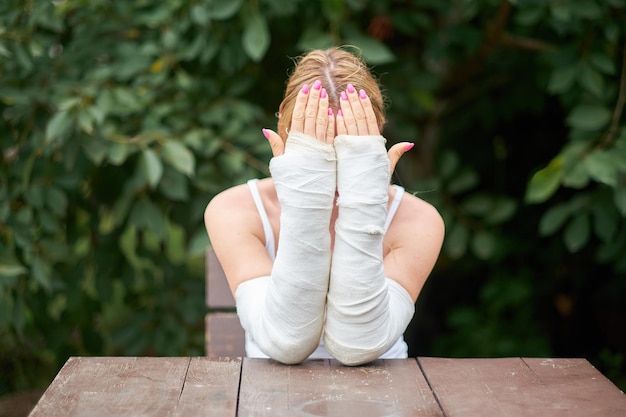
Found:
<svg viewBox="0 0 626 417"><path fill-rule="evenodd" d="M415 306L385 277L389 159L382 136L335 138L339 216L335 223L324 344L345 365L377 359L402 335Z"/></svg>

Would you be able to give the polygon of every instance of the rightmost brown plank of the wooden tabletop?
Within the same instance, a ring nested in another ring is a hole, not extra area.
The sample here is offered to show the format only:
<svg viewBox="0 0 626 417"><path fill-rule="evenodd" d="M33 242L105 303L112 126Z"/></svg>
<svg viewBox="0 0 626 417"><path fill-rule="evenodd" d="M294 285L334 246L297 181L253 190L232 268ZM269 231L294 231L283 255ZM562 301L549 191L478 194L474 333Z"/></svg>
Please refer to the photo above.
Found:
<svg viewBox="0 0 626 417"><path fill-rule="evenodd" d="M626 396L584 359L418 358L454 416L626 416Z"/></svg>

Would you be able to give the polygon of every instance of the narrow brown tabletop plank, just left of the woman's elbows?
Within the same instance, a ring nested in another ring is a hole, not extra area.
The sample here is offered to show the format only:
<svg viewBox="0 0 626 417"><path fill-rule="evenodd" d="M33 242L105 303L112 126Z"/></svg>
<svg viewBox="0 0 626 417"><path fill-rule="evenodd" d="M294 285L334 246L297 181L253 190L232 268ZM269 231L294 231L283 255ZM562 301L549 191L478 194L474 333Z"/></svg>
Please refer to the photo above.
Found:
<svg viewBox="0 0 626 417"><path fill-rule="evenodd" d="M240 371L241 358L192 358L174 415L236 416Z"/></svg>

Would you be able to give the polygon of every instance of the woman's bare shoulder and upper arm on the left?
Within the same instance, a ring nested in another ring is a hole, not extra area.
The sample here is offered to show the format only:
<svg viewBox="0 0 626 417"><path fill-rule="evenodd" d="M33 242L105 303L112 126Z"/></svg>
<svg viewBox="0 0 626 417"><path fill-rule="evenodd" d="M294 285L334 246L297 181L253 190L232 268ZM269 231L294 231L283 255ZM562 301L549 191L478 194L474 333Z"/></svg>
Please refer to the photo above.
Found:
<svg viewBox="0 0 626 417"><path fill-rule="evenodd" d="M204 212L204 222L233 294L241 282L271 271L263 225L247 184L213 197Z"/></svg>

